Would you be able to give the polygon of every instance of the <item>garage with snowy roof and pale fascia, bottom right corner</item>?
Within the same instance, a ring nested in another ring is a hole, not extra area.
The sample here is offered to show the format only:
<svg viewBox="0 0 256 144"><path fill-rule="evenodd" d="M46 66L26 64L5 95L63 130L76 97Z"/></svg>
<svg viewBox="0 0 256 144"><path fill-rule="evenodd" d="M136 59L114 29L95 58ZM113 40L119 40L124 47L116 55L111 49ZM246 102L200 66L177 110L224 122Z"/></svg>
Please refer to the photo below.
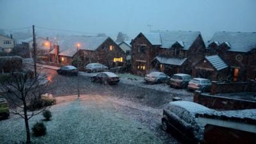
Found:
<svg viewBox="0 0 256 144"><path fill-rule="evenodd" d="M196 114L204 125L204 142L253 144L256 141L256 109Z"/></svg>

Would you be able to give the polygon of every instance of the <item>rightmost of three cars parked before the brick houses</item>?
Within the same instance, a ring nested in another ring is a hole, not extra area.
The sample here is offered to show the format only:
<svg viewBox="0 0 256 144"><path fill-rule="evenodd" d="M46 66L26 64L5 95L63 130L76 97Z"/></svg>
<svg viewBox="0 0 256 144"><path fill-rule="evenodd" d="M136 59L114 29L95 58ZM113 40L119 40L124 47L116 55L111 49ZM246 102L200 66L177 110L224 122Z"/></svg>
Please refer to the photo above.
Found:
<svg viewBox="0 0 256 144"><path fill-rule="evenodd" d="M211 88L212 82L209 79L193 78L188 83L188 90L202 90L207 92Z"/></svg>

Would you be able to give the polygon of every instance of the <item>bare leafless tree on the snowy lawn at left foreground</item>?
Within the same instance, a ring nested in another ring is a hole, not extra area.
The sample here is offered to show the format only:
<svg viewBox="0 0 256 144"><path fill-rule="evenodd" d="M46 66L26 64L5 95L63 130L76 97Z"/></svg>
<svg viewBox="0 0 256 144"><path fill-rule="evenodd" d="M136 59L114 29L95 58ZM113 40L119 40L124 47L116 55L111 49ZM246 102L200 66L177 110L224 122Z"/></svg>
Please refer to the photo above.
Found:
<svg viewBox="0 0 256 144"><path fill-rule="evenodd" d="M29 109L29 103L41 99L41 94L44 93L48 85L49 83L44 76L36 74L34 77L30 70L12 72L10 79L1 81L1 88L7 92L8 97L6 98L12 102L14 107L10 113L24 118L27 134L26 143L31 143L29 119L46 109Z"/></svg>

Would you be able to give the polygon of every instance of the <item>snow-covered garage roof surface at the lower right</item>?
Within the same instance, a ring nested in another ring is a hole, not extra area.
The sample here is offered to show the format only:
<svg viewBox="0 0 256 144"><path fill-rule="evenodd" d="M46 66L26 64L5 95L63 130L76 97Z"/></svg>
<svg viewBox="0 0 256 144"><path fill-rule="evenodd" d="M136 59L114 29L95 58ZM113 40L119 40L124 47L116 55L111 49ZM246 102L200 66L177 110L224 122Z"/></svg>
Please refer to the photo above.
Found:
<svg viewBox="0 0 256 144"><path fill-rule="evenodd" d="M196 116L256 124L256 109L214 111L213 113L201 113Z"/></svg>

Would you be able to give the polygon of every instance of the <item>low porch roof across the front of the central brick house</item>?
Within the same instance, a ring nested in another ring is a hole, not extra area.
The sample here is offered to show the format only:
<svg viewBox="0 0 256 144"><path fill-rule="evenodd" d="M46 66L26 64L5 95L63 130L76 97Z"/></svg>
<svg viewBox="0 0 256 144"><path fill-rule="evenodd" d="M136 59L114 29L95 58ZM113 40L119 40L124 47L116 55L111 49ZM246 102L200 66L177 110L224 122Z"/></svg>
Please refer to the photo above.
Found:
<svg viewBox="0 0 256 144"><path fill-rule="evenodd" d="M154 60L159 61L159 63L168 64L168 65L182 65L187 58L179 59L179 58L166 58L157 56Z"/></svg>

